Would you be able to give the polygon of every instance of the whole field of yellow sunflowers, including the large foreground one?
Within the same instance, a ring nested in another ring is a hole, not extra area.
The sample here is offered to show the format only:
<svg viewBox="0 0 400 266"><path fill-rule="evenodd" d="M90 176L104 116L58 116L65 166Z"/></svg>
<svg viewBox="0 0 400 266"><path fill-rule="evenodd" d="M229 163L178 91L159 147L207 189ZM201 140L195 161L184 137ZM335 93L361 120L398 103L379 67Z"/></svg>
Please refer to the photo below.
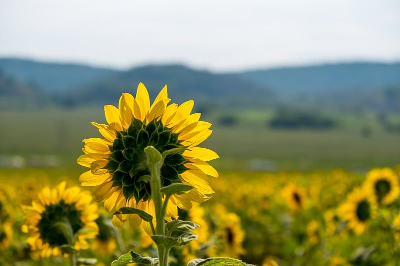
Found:
<svg viewBox="0 0 400 266"><path fill-rule="evenodd" d="M128 265L400 265L400 167L240 170L222 158L218 170L201 145L211 124L193 101L169 101L165 87L150 105L139 84L105 106L106 124L92 122L100 135L73 153L82 167L62 167L70 155L7 157L0 265L122 265L126 254L141 256ZM166 241L175 245L154 261Z"/></svg>

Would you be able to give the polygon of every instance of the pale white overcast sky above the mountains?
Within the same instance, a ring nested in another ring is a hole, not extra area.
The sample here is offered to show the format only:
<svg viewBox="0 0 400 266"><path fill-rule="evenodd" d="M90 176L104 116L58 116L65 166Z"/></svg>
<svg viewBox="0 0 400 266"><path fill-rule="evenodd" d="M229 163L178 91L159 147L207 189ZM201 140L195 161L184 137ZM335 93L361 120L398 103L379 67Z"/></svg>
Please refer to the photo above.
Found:
<svg viewBox="0 0 400 266"><path fill-rule="evenodd" d="M400 61L400 0L0 0L0 56L217 72Z"/></svg>

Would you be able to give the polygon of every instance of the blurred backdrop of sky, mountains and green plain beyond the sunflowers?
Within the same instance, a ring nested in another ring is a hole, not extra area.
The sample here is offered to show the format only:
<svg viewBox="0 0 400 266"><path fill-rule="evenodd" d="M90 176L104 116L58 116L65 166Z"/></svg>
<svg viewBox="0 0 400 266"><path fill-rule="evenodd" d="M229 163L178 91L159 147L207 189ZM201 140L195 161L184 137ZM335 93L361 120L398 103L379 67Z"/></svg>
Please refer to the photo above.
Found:
<svg viewBox="0 0 400 266"><path fill-rule="evenodd" d="M400 2L0 2L0 167L77 168L102 106L168 86L220 170L400 158ZM78 168L80 169L80 168Z"/></svg>

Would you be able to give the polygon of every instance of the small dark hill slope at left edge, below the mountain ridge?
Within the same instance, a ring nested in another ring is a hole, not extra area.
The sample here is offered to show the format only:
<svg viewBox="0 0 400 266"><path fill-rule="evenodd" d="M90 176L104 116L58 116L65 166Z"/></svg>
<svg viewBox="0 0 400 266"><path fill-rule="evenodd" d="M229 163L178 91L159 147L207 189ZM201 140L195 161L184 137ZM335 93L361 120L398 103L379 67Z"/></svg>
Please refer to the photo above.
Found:
<svg viewBox="0 0 400 266"><path fill-rule="evenodd" d="M41 88L0 71L0 110L40 108L50 102L50 96Z"/></svg>

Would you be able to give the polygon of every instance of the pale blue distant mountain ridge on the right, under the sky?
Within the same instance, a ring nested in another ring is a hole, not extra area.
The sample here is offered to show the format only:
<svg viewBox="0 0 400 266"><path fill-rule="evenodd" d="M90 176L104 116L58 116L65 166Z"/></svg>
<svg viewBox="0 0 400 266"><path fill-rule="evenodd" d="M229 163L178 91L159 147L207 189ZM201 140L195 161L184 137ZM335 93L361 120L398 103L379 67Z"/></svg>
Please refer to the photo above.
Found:
<svg viewBox="0 0 400 266"><path fill-rule="evenodd" d="M356 90L399 85L400 63L322 64L256 69L241 74L282 93Z"/></svg>

